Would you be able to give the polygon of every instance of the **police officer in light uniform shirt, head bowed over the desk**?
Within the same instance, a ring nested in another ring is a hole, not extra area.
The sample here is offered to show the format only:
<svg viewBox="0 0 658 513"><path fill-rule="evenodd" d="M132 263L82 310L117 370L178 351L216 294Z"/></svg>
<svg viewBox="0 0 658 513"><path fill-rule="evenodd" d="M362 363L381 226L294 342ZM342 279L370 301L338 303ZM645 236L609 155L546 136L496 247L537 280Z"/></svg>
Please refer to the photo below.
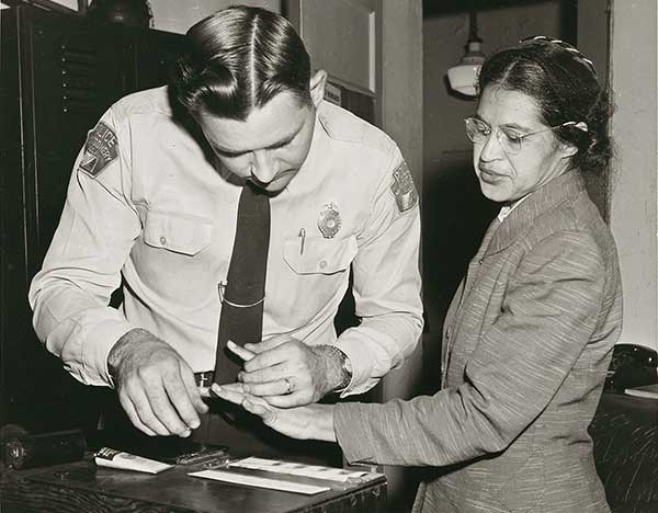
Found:
<svg viewBox="0 0 658 513"><path fill-rule="evenodd" d="M185 45L169 87L89 132L30 290L38 337L77 379L115 387L141 432L183 437L208 408L246 182L271 208L262 340L235 349L251 394L283 408L362 394L422 328L418 195L395 142L322 100L326 72L279 14L229 8ZM361 322L337 338L350 266Z"/></svg>

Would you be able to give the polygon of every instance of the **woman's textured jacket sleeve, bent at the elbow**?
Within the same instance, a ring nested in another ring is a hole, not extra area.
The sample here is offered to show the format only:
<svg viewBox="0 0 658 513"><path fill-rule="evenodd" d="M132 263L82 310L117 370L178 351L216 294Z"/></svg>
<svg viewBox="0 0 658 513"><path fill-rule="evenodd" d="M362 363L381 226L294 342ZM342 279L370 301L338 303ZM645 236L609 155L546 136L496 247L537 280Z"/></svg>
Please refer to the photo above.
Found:
<svg viewBox="0 0 658 513"><path fill-rule="evenodd" d="M546 408L590 341L603 274L589 235L545 239L510 278L463 385L410 401L337 404L347 459L444 466L503 451Z"/></svg>

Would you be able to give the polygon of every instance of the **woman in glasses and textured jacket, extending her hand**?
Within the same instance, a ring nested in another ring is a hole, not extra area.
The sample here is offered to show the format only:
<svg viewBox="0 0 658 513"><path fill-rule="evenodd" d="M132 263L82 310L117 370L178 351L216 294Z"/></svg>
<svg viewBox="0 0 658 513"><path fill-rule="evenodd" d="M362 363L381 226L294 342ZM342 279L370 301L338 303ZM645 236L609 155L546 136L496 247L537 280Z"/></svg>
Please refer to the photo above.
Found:
<svg viewBox="0 0 658 513"><path fill-rule="evenodd" d="M216 389L273 429L338 441L349 461L431 466L415 511L609 511L592 420L622 323L613 238L582 174L604 172L609 109L576 48L533 37L491 55L466 119L483 194L502 204L444 324L432 397L281 410Z"/></svg>

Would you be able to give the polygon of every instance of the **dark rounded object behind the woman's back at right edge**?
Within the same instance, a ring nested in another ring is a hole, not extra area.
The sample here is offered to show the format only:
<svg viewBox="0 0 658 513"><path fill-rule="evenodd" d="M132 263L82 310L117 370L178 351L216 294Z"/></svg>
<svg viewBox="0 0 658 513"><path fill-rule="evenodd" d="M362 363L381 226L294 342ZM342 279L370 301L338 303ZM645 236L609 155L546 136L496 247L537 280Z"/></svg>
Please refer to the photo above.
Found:
<svg viewBox="0 0 658 513"><path fill-rule="evenodd" d="M624 391L626 388L658 383L658 353L635 344L616 344L605 379L605 389Z"/></svg>

